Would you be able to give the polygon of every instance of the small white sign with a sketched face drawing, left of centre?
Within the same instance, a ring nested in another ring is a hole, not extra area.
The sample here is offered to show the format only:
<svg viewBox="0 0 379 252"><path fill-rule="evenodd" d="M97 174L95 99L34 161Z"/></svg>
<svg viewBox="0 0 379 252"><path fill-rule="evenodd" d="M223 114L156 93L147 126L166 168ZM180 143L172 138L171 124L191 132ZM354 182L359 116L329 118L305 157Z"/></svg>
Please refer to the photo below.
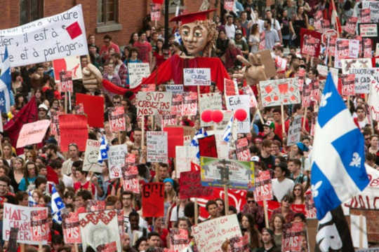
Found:
<svg viewBox="0 0 379 252"><path fill-rule="evenodd" d="M98 162L100 151L100 141L87 139L86 152L84 153L83 171L102 172L102 167Z"/></svg>

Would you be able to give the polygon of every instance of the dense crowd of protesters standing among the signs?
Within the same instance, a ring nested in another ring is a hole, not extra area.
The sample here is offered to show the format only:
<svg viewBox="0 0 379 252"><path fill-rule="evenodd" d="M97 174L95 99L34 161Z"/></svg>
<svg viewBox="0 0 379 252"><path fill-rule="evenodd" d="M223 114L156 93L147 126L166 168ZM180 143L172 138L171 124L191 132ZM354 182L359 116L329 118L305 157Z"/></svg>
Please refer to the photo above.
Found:
<svg viewBox="0 0 379 252"><path fill-rule="evenodd" d="M305 69L306 79L319 79L317 64L323 64L325 52L321 49L319 58L300 55L300 28L310 28L314 22L313 15L317 10L328 17L329 2L312 0L275 1L266 7L263 1L236 1L238 11L225 13L223 18L215 16L218 24L218 38L214 51L215 57L220 57L225 68L232 75L241 71L241 63L237 55L248 56L249 52L258 52L262 40L265 48L272 51L272 57L287 59L286 68L278 71L276 78L291 78L297 76L299 69ZM352 15L354 2L347 0L340 3L343 7L342 20L345 22ZM356 5L358 3L355 3ZM220 20L224 20L221 22ZM95 36L88 36L89 57L81 57L81 66L88 62L95 65L103 74L103 78L119 87L128 87L128 64L147 62L151 71L157 69L172 55L185 55L185 49L175 41L175 35L164 41L164 29L154 27L152 22L145 20L142 31L134 32L130 41L117 45L112 37L106 35L102 41L96 41ZM265 36L260 36L265 31ZM345 36L345 34L342 34ZM324 45L325 46L325 45ZM329 62L330 64L332 62ZM16 67L11 70L12 92L15 95L15 105L11 113L2 114L2 123L15 116L29 99L36 97L39 120L49 119L53 113L64 111L64 99L54 83L51 62L29 66ZM239 80L239 87L243 80ZM157 87L160 88L160 87ZM102 162L102 173L83 171L84 153L79 152L75 143L69 144L68 153L62 153L58 141L53 135L47 134L44 145L25 146L22 155L15 155L15 146L7 132L0 134L0 199L1 202L28 206L29 192L39 206L49 206L51 202L51 185L55 184L66 209L78 211L86 207L89 200L105 201L106 209L123 209L125 235L123 251L148 251L149 249L168 246L168 230L184 228L190 230L194 225L194 203L189 200L179 200L180 188L177 179L173 178L173 162L146 162L146 147L142 146L142 123L137 119L134 101L128 95L112 95L108 97L101 88L90 91L81 81L74 81L74 94L82 92L105 97L105 127L90 128L89 139L100 139L105 136L109 144L126 144L128 152L136 156L140 184L159 181L165 184L165 215L161 218L142 218L140 212L141 197L124 191L119 179L110 179L107 162ZM217 92L217 90L216 90ZM72 104L74 97L72 95ZM222 96L223 97L223 96ZM257 97L258 100L260 97ZM378 169L379 137L377 122L368 117L367 104L364 97L350 97L350 111L354 122L364 134L366 163ZM126 132L111 132L107 123L107 111L112 106L124 106ZM74 106L73 106L74 107ZM248 234L251 251L280 251L282 227L285 223L305 222L305 214L295 212L291 204L305 204L305 196L310 195L310 151L312 151L313 129L317 118L316 106L305 108L300 104L284 107L284 115L280 108L259 108L264 122L251 109L251 133L238 134L239 138L247 137L251 162L255 170L269 170L272 174L272 190L274 200L280 203L270 218L270 228L265 228L263 209L254 200L253 193L247 193L246 205L240 211L230 207L230 213L238 216L242 233ZM286 146L288 127L293 116L303 116L301 140L293 146ZM284 116L285 132L282 132ZM199 130L199 116L183 116L177 118L178 125L195 127ZM160 130L152 128L152 122L147 120L145 131ZM121 136L119 137L119 134ZM119 143L121 139L121 143ZM235 153L230 153L235 158ZM59 183L49 179L51 174L58 175ZM1 206L1 212L2 212ZM209 200L206 203L208 219L225 215L222 199ZM202 220L202 221L207 221ZM51 239L44 251L72 251L73 246L64 244L62 227L53 223L51 216ZM201 222L199 220L199 222ZM1 227L1 225L0 225ZM140 237L133 240L133 230L140 230ZM1 241L4 251L7 241ZM36 248L27 246L27 251ZM194 242L192 242L192 249ZM228 241L222 245L223 251L230 251ZM308 251L303 244L302 251Z"/></svg>

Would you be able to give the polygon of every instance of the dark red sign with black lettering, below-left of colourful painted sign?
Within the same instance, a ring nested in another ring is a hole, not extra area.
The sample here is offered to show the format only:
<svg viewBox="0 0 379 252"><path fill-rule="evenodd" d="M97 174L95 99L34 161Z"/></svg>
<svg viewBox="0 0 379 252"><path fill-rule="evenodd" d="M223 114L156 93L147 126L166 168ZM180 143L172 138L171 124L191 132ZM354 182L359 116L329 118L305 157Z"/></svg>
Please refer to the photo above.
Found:
<svg viewBox="0 0 379 252"><path fill-rule="evenodd" d="M189 199L191 197L207 197L212 195L213 189L208 186L201 186L200 171L181 172L180 179L180 199Z"/></svg>

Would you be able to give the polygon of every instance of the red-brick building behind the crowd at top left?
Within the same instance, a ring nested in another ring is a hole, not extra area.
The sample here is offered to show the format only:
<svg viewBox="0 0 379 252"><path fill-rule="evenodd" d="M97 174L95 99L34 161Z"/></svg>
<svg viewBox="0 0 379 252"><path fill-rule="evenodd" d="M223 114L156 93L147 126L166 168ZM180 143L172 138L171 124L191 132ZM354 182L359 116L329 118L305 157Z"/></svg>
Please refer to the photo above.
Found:
<svg viewBox="0 0 379 252"><path fill-rule="evenodd" d="M170 18L175 15L175 4L180 2L186 12L199 10L203 0L169 0ZM86 34L95 34L101 45L102 36L109 34L119 45L126 45L135 31L142 29L142 21L149 14L152 0L1 0L0 29L25 24L32 20L61 13L81 4L86 23ZM158 27L164 26L164 14Z"/></svg>

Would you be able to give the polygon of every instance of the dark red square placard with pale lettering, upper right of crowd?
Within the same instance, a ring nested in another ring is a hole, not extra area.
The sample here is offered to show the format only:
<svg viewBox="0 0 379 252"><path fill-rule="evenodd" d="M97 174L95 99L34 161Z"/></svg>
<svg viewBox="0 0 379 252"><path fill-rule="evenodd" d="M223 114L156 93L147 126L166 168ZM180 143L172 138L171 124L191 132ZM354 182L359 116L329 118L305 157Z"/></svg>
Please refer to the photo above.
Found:
<svg viewBox="0 0 379 252"><path fill-rule="evenodd" d="M300 29L300 48L302 55L319 57L321 33L309 29Z"/></svg>

